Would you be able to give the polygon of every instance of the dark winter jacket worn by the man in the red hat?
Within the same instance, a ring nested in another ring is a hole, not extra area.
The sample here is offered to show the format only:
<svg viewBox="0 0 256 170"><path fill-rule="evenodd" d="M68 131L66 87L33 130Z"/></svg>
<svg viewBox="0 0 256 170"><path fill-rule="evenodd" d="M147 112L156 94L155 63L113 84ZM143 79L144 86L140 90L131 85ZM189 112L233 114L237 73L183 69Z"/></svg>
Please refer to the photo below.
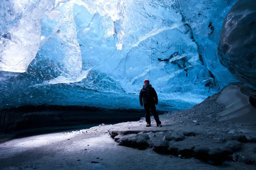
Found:
<svg viewBox="0 0 256 170"><path fill-rule="evenodd" d="M145 87L145 85L143 85L143 88L139 93L139 103L141 106L143 106L143 104L144 105L158 104L157 93L155 92L155 89L152 87L152 85L149 85L148 88Z"/></svg>

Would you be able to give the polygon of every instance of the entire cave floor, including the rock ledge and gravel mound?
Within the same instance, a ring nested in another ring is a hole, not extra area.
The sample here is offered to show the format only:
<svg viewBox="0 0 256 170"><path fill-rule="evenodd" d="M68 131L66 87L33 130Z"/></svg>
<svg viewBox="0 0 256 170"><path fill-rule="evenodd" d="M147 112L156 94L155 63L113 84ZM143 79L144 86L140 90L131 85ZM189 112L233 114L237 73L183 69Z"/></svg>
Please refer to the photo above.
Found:
<svg viewBox="0 0 256 170"><path fill-rule="evenodd" d="M159 115L161 128L151 117L152 127L147 128L142 118L73 131L4 134L0 169L255 170L256 108L249 102L251 91L230 84L190 109Z"/></svg>

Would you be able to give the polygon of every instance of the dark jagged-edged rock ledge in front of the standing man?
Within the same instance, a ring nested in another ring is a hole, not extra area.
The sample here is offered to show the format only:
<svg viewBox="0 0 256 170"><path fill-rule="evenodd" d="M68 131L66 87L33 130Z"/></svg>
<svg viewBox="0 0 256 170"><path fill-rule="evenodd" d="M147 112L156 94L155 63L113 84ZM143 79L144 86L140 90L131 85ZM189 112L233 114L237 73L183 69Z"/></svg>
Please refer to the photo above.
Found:
<svg viewBox="0 0 256 170"><path fill-rule="evenodd" d="M213 134L214 138L209 140L209 133L181 132L169 130L170 127L146 129L135 125L129 128L110 129L109 134L123 146L153 148L155 152L182 159L195 157L214 165L222 164L224 161L256 165L256 136Z"/></svg>

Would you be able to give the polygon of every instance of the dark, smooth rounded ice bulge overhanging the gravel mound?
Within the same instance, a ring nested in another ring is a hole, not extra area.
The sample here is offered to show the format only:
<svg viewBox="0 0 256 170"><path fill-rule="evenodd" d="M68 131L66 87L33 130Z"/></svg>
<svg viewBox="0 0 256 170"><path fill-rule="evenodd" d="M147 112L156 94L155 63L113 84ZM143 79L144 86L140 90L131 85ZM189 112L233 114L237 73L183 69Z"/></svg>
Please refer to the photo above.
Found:
<svg viewBox="0 0 256 170"><path fill-rule="evenodd" d="M218 50L222 65L256 87L256 1L238 0L228 12Z"/></svg>

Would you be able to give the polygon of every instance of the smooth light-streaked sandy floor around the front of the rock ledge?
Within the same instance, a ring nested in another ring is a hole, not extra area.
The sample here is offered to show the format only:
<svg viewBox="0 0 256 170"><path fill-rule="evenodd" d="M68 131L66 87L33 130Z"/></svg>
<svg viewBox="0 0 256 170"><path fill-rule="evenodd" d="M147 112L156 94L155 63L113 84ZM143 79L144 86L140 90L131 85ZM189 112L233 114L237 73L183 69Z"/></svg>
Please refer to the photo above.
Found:
<svg viewBox="0 0 256 170"><path fill-rule="evenodd" d="M164 116L168 115L160 118ZM163 131L189 128L180 123L165 124L163 121ZM0 169L255 169L242 162L215 166L196 158L159 154L152 148L139 150L121 146L108 132L117 128L161 131L158 127L145 128L145 121L141 120L16 138L0 143Z"/></svg>

